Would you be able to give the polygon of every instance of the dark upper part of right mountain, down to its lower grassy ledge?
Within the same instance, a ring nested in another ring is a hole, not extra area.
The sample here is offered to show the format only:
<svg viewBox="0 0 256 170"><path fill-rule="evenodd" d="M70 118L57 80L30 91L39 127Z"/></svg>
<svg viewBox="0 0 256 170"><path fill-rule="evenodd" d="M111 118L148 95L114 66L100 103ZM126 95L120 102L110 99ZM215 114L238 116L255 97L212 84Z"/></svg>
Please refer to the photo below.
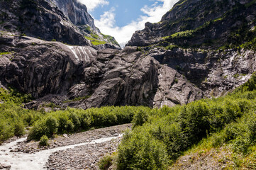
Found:
<svg viewBox="0 0 256 170"><path fill-rule="evenodd" d="M145 23L145 29L136 31L128 45L174 43L181 47L218 49L226 43L243 43L247 35L233 35L249 33L256 25L255 7L252 0L181 0L159 23Z"/></svg>

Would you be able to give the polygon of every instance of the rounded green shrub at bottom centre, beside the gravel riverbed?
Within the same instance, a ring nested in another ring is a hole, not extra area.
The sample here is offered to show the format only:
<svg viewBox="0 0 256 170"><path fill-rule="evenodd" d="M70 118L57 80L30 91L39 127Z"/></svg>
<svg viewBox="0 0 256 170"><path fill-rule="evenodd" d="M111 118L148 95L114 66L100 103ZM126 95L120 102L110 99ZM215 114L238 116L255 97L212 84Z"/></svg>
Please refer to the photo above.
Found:
<svg viewBox="0 0 256 170"><path fill-rule="evenodd" d="M146 130L127 132L118 146L117 169L167 169L169 158L165 145Z"/></svg>

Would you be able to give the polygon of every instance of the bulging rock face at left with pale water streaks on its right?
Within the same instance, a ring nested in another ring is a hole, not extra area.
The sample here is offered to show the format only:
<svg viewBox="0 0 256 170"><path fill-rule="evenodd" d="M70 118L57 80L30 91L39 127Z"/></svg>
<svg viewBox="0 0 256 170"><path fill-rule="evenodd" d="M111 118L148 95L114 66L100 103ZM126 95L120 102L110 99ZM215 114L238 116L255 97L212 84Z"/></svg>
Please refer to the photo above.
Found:
<svg viewBox="0 0 256 170"><path fill-rule="evenodd" d="M96 50L89 46L69 46L28 37L6 38L15 47L8 47L12 52L1 57L1 79L35 98L65 94L79 79L80 65L88 64L96 56Z"/></svg>

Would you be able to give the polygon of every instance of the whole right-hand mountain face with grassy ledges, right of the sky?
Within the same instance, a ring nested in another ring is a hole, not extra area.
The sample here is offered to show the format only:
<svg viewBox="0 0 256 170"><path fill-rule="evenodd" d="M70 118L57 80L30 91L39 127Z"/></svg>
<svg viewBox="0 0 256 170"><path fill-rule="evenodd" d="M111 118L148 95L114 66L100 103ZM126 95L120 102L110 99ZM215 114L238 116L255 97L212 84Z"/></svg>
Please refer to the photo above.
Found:
<svg viewBox="0 0 256 170"><path fill-rule="evenodd" d="M128 42L177 70L206 96L221 96L255 72L256 3L179 1Z"/></svg>

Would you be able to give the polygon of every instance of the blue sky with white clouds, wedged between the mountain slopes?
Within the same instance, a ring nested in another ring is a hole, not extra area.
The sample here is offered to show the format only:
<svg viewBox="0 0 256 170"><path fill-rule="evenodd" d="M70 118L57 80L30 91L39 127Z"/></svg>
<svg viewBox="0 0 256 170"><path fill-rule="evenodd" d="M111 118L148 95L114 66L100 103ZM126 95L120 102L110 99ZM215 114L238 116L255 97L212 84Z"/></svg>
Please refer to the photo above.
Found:
<svg viewBox="0 0 256 170"><path fill-rule="evenodd" d="M178 0L79 0L85 4L101 33L119 44L130 40L145 23L156 23Z"/></svg>

